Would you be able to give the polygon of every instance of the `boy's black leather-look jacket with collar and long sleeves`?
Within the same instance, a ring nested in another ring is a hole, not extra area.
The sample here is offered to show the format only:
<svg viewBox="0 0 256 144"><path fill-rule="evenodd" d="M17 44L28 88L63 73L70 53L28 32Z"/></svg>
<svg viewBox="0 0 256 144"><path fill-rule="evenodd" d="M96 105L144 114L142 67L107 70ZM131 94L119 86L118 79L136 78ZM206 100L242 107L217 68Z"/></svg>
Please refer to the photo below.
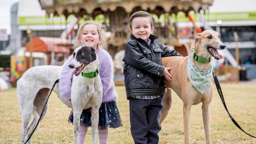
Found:
<svg viewBox="0 0 256 144"><path fill-rule="evenodd" d="M165 94L161 57L182 56L174 50L155 41L158 37L150 35L150 46L141 38L131 39L125 45L124 83L126 96L159 96Z"/></svg>

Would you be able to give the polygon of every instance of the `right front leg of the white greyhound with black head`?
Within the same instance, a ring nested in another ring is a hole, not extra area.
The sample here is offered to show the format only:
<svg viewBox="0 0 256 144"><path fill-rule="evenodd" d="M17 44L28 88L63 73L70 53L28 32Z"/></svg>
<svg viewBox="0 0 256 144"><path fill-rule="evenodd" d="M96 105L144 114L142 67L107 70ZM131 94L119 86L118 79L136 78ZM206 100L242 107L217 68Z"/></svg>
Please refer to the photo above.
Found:
<svg viewBox="0 0 256 144"><path fill-rule="evenodd" d="M98 122L99 122L99 106L93 105L91 111L91 129L93 135L93 144L97 144Z"/></svg>

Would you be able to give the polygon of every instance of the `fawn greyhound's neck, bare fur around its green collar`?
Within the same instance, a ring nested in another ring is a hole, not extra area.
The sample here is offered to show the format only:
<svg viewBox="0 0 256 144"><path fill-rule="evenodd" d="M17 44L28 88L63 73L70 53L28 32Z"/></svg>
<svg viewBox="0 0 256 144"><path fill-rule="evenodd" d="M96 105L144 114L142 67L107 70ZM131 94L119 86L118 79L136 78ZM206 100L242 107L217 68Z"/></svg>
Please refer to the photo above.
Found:
<svg viewBox="0 0 256 144"><path fill-rule="evenodd" d="M199 55L200 57L204 57L205 59L209 59L211 57L211 55L209 56L209 54L202 54L202 52L200 53L200 51L196 48L197 46L195 46L195 52L197 55ZM195 64L195 66L202 71L208 70L209 67L211 66L211 62L208 63L198 63L192 55L192 61Z"/></svg>

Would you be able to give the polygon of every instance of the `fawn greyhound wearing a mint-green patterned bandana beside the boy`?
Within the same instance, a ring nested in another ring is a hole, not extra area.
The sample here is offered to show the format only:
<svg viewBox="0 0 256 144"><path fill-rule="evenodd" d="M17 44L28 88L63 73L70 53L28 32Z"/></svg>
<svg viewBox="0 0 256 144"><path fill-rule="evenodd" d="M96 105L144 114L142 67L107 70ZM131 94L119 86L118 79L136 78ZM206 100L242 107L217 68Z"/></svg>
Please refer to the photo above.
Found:
<svg viewBox="0 0 256 144"><path fill-rule="evenodd" d="M160 124L166 118L171 109L173 97L172 90L183 101L183 118L184 118L184 143L189 144L189 115L192 105L202 102L202 116L204 122L204 131L206 144L211 144L210 133L210 109L209 105L212 99L213 78L211 77L211 57L221 59L222 55L218 50L226 46L221 42L220 35L216 31L206 30L195 35L195 48L193 54L187 57L163 57L162 65L172 67L170 71L173 81L165 79L167 94L163 97L163 109L160 113ZM190 66L189 63L192 65ZM190 73L199 71L198 74ZM204 72L208 71L208 75ZM202 78L204 76L204 78ZM208 76L208 79L207 79ZM195 79L194 79L194 78ZM210 77L210 78L209 78ZM198 80L199 78L199 80ZM196 86L198 83L207 83L206 85ZM194 85L193 85L194 84ZM169 89L171 88L171 89ZM202 89L204 89L202 91Z"/></svg>

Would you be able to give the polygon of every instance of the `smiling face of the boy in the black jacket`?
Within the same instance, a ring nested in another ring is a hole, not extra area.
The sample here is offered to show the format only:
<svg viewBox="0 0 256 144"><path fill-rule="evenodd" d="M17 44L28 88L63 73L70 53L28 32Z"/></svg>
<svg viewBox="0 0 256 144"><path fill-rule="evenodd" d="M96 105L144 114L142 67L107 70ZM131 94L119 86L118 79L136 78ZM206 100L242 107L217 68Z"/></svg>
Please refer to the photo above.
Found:
<svg viewBox="0 0 256 144"><path fill-rule="evenodd" d="M130 28L129 31L134 37L147 41L150 34L154 31L154 27L151 27L149 17L135 17L132 20L132 29Z"/></svg>

